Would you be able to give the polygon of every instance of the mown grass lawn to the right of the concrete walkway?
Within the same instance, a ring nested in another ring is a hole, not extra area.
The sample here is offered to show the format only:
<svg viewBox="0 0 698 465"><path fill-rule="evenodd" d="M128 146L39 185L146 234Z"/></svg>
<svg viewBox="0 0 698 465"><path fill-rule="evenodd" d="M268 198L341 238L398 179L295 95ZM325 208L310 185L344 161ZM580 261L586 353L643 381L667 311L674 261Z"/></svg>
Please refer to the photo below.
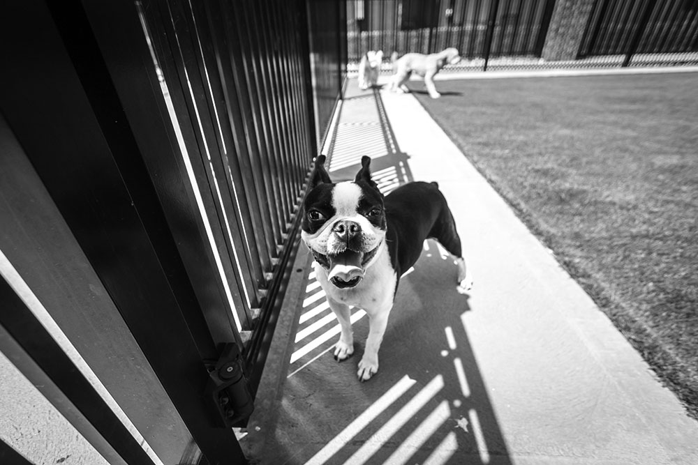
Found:
<svg viewBox="0 0 698 465"><path fill-rule="evenodd" d="M409 86L698 418L698 75Z"/></svg>

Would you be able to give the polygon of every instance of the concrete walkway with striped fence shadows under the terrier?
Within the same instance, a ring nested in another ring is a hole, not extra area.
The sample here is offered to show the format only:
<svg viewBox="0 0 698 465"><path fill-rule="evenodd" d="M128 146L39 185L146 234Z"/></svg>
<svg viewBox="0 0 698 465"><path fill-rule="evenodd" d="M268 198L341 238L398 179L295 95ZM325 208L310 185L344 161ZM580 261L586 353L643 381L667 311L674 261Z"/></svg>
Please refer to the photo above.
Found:
<svg viewBox="0 0 698 465"><path fill-rule="evenodd" d="M470 295L433 241L400 282L380 370L336 363L339 328L302 245L246 455L262 464L698 464L698 423L410 95L350 83L330 174L438 181ZM442 98L459 98L443 96Z"/></svg>

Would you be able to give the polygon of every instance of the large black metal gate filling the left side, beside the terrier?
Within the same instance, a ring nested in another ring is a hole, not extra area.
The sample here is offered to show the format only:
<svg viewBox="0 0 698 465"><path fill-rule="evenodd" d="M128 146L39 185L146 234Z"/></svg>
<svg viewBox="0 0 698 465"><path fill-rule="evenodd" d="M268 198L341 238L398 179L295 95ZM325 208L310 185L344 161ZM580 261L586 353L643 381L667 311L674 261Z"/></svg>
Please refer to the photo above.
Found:
<svg viewBox="0 0 698 465"><path fill-rule="evenodd" d="M29 384L3 385L0 462L244 462L231 427L253 409L341 90L338 5L3 8L0 369ZM34 391L80 444L13 406Z"/></svg>

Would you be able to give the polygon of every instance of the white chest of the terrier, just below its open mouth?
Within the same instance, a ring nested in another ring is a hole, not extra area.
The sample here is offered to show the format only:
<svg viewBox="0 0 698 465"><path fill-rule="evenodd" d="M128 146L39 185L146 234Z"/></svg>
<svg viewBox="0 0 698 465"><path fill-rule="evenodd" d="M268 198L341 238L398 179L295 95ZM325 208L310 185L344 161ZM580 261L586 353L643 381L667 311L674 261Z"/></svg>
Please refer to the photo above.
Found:
<svg viewBox="0 0 698 465"><path fill-rule="evenodd" d="M362 282L350 289L339 289L327 280L327 270L314 261L315 275L328 298L336 302L359 307L370 315L391 305L395 294L396 274L390 264L385 247L376 262L369 266Z"/></svg>

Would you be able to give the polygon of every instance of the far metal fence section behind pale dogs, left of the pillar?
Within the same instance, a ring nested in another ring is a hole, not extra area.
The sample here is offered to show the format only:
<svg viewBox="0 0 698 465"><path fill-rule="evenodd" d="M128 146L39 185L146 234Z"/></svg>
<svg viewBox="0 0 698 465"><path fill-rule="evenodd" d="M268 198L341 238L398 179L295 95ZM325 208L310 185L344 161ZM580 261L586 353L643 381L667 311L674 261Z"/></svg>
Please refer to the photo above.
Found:
<svg viewBox="0 0 698 465"><path fill-rule="evenodd" d="M551 0L350 0L349 61L367 50L434 53L456 47L468 59L540 56Z"/></svg>

